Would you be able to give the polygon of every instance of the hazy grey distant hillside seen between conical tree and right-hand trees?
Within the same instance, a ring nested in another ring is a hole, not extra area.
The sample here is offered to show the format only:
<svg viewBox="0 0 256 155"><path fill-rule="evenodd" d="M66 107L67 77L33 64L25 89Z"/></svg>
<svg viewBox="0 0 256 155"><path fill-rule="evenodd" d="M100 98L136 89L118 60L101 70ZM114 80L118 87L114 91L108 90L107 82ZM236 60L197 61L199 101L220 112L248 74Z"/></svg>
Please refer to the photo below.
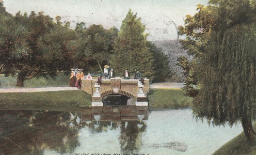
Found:
<svg viewBox="0 0 256 155"><path fill-rule="evenodd" d="M162 41L152 41L157 47L162 48L163 52L170 57L170 68L172 71L172 77L170 81L179 81L183 79L183 71L177 66L177 59L179 56L183 55L188 58L188 54L182 48L181 44L177 40L162 40Z"/></svg>

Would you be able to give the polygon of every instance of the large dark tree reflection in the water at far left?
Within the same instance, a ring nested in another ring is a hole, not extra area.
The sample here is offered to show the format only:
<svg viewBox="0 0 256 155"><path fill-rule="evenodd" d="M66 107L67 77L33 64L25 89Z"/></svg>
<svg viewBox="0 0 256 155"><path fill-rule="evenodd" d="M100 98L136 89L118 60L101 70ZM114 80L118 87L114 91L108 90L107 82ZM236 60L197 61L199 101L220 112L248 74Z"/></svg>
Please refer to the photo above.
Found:
<svg viewBox="0 0 256 155"><path fill-rule="evenodd" d="M73 154L82 124L70 112L0 111L0 154L43 155L44 150Z"/></svg>

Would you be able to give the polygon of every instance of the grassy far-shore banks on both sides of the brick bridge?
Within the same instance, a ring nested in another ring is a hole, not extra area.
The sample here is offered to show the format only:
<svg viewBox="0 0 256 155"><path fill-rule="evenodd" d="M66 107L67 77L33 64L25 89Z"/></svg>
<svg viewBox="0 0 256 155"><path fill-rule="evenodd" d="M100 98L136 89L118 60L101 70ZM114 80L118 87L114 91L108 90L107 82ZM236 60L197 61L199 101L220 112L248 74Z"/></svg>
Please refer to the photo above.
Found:
<svg viewBox="0 0 256 155"><path fill-rule="evenodd" d="M190 108L192 98L180 89L151 89L147 94L150 108ZM91 95L83 91L0 93L1 108L10 106L90 107Z"/></svg>

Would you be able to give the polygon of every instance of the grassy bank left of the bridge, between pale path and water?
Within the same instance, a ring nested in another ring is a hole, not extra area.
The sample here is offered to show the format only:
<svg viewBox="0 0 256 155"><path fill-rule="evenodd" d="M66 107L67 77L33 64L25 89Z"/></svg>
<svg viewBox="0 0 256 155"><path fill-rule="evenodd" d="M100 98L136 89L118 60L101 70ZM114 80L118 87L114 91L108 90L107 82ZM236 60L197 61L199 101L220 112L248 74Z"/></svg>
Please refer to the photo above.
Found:
<svg viewBox="0 0 256 155"><path fill-rule="evenodd" d="M35 107L89 107L91 95L82 91L0 93L2 108L15 106Z"/></svg>

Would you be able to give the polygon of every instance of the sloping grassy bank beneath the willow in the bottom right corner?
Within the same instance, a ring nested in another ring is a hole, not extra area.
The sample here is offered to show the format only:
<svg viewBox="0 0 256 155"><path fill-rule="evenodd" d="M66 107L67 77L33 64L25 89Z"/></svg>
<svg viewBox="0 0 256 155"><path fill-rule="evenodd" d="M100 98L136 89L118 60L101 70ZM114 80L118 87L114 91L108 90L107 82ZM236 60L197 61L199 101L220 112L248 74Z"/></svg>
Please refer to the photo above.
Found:
<svg viewBox="0 0 256 155"><path fill-rule="evenodd" d="M256 130L256 124L253 125ZM213 155L256 155L256 140L247 141L244 133L224 144Z"/></svg>

